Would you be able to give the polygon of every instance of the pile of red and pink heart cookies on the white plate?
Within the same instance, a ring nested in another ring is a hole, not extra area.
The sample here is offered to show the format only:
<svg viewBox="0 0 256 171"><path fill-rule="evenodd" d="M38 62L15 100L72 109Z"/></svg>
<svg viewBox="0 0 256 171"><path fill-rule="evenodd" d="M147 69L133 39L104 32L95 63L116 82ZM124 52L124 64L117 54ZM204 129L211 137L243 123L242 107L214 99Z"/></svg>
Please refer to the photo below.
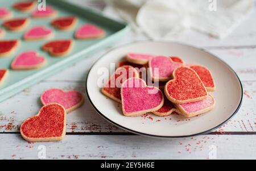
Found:
<svg viewBox="0 0 256 171"><path fill-rule="evenodd" d="M143 72L146 70L146 77ZM125 116L172 112L192 117L214 108L213 76L205 66L185 64L180 57L127 53L101 91L122 104Z"/></svg>

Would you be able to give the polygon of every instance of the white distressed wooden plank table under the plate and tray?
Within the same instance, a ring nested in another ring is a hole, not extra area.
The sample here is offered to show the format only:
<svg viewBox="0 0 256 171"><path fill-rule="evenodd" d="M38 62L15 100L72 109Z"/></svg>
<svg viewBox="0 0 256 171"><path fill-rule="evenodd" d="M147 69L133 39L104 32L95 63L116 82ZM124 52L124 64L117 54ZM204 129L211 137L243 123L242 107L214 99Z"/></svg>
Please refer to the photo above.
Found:
<svg viewBox="0 0 256 171"><path fill-rule="evenodd" d="M102 9L101 1L74 1ZM123 131L99 116L86 94L84 105L67 116L63 141L28 143L19 134L24 119L41 107L40 94L49 88L85 92L85 78L93 62L108 49L63 70L0 103L0 159L256 159L256 10L224 40L190 31L177 39L217 55L236 70L243 85L243 103L236 116L208 135L184 139L152 139ZM118 44L148 39L129 32ZM116 46L115 45L115 46ZM44 145L44 146L42 146Z"/></svg>

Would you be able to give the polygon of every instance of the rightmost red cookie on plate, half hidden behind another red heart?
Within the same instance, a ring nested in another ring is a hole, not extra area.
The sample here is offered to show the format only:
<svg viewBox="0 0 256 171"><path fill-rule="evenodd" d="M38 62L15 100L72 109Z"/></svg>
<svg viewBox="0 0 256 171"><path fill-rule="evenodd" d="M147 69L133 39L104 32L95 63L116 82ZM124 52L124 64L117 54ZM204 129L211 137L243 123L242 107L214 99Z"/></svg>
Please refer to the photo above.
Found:
<svg viewBox="0 0 256 171"><path fill-rule="evenodd" d="M207 68L201 65L189 65L189 67L195 70L200 79L203 81L207 91L215 90L215 84L212 77L212 73L210 73L210 71Z"/></svg>

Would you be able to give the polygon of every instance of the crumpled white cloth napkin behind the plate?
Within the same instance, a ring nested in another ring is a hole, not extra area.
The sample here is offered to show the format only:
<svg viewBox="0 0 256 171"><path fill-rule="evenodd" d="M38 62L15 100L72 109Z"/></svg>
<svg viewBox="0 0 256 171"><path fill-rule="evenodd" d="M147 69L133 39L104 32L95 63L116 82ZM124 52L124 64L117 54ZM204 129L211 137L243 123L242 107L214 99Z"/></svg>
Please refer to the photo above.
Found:
<svg viewBox="0 0 256 171"><path fill-rule="evenodd" d="M253 0L109 0L105 9L151 39L175 39L194 29L228 36L250 13Z"/></svg>

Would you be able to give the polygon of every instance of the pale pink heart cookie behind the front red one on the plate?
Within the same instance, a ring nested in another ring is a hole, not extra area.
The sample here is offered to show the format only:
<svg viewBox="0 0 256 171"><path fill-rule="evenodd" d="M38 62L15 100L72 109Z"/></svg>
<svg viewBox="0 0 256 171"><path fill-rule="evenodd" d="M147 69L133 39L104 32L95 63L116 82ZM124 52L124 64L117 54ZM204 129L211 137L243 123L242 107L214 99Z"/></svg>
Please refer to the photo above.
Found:
<svg viewBox="0 0 256 171"><path fill-rule="evenodd" d="M179 62L173 62L170 57L156 56L149 60L148 67L150 69L151 80L168 81L174 69L181 66Z"/></svg>

